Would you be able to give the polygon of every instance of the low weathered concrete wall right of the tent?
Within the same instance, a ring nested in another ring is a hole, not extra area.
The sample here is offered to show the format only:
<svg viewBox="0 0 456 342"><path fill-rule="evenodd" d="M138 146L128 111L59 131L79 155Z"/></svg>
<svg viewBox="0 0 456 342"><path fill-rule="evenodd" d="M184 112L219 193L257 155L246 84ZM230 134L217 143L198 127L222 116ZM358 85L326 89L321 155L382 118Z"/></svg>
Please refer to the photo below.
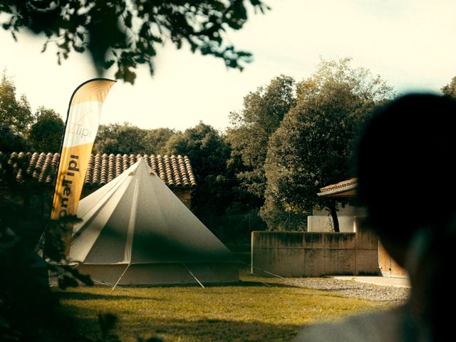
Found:
<svg viewBox="0 0 456 342"><path fill-rule="evenodd" d="M369 232L252 232L252 273L260 276L378 274L378 238Z"/></svg>

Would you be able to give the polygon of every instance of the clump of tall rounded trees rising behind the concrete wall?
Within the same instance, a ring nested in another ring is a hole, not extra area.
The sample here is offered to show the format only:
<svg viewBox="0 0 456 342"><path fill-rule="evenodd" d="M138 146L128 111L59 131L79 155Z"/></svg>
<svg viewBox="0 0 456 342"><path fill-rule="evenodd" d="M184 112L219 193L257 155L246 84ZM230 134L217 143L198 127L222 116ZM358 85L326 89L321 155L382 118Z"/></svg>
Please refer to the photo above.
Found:
<svg viewBox="0 0 456 342"><path fill-rule="evenodd" d="M305 229L312 209L328 209L338 231L337 205L319 188L353 177L351 152L369 113L393 90L350 58L321 61L303 81L279 76L244 98L232 113L230 162L240 186L257 199L271 230Z"/></svg>

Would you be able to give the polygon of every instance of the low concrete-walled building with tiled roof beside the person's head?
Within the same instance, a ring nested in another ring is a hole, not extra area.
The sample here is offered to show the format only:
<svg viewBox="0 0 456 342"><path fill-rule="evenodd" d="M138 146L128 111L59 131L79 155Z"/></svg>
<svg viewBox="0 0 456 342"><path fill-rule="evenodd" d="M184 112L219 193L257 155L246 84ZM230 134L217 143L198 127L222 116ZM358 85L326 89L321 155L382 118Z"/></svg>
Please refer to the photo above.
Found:
<svg viewBox="0 0 456 342"><path fill-rule="evenodd" d="M322 187L318 196L355 197L357 187L358 180L351 178ZM321 222L314 227L308 224L311 229L307 232L252 232L252 273L261 276L408 276L386 252L378 236L359 224L364 216L362 208L352 209L352 216L348 212L345 215L351 230L345 232L342 229L331 232ZM331 219L327 214L321 217Z"/></svg>

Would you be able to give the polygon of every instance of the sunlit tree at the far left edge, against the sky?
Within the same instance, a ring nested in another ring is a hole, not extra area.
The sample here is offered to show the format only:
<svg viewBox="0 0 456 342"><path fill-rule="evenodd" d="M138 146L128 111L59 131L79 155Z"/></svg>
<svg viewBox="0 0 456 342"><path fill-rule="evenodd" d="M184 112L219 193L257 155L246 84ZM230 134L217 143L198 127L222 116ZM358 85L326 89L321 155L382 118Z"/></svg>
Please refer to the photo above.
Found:
<svg viewBox="0 0 456 342"><path fill-rule="evenodd" d="M0 83L0 123L11 126L16 133L24 134L32 122L33 115L26 95L16 98L16 86L4 70Z"/></svg>

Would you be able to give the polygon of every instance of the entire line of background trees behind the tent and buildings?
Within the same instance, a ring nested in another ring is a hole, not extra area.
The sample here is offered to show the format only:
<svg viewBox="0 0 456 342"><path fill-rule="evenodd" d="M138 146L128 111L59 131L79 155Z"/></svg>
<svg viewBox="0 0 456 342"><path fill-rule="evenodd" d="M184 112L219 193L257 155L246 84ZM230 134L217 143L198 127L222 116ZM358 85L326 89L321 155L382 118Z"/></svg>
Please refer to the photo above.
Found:
<svg viewBox="0 0 456 342"><path fill-rule="evenodd" d="M456 77L442 93L456 96L455 89ZM341 202L316 193L355 176L356 137L373 109L394 96L380 76L353 67L350 58L322 60L302 81L282 75L247 94L241 110L230 113L227 130L202 122L183 132L130 123L100 125L94 152L188 155L198 184L192 209L204 223L209 217L212 222L212 217L259 214L267 229L305 229L312 209L326 208L337 231ZM16 96L5 72L0 118L4 152L58 151L60 116L43 107L32 114L26 96Z"/></svg>

